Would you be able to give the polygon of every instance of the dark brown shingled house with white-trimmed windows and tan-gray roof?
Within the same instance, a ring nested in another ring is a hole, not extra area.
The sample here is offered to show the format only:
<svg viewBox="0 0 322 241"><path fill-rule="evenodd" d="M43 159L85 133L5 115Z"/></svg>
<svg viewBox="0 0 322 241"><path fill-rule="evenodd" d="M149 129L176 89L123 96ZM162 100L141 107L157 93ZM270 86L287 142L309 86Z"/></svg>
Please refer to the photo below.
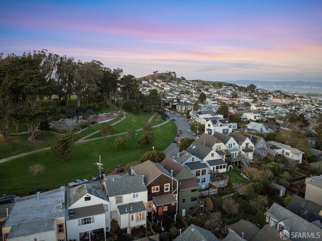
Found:
<svg viewBox="0 0 322 241"><path fill-rule="evenodd" d="M132 175L143 175L147 188L147 211L155 225L176 221L178 180L159 163L147 160L131 168Z"/></svg>

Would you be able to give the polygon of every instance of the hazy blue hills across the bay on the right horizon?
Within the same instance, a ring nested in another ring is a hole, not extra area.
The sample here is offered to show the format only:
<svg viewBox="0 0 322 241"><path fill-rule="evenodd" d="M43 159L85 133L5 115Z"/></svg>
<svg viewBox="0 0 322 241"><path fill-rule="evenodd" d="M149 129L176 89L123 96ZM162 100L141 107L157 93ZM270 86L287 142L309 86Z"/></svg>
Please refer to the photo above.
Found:
<svg viewBox="0 0 322 241"><path fill-rule="evenodd" d="M250 81L250 80L227 81L227 82L236 84L238 86L248 86L250 84L254 84L259 88L264 88L264 87L322 88L322 82L304 82L304 81L274 82L274 81Z"/></svg>

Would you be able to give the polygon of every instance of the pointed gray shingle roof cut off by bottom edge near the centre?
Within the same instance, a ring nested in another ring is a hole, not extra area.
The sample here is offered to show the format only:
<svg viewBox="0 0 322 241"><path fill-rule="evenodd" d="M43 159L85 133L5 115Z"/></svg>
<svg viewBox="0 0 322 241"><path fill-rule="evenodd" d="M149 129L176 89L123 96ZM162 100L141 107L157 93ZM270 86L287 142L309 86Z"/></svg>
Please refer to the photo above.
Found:
<svg viewBox="0 0 322 241"><path fill-rule="evenodd" d="M174 241L219 241L219 239L209 230L191 224Z"/></svg>

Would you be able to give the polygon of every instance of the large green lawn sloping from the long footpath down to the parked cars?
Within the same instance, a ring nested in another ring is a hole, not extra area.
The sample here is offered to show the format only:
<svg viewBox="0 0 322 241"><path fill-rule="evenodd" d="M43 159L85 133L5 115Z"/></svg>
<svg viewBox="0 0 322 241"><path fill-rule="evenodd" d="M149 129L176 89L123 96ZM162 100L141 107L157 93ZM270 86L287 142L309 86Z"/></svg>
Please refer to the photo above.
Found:
<svg viewBox="0 0 322 241"><path fill-rule="evenodd" d="M160 126L159 131L154 129L154 149L164 150L171 144L176 132L177 127L173 122ZM142 131L137 132L135 140L128 140L128 148L120 151L116 151L113 145L116 137L76 144L69 162L58 162L48 150L2 163L0 194L16 192L18 195L24 195L38 188L58 188L77 178L90 179L98 172L93 163L98 162L99 155L107 172L118 165L139 160L145 151L152 150L152 146L141 147L137 144L141 134ZM126 138L125 135L122 137ZM44 173L36 176L31 174L28 167L34 164L44 165Z"/></svg>

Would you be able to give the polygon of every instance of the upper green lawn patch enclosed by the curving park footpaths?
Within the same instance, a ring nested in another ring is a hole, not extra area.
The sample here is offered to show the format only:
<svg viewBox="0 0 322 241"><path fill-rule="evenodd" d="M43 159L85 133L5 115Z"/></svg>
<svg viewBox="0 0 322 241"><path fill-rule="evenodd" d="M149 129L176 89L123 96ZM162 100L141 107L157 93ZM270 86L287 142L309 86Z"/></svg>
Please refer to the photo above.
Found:
<svg viewBox="0 0 322 241"><path fill-rule="evenodd" d="M141 114L128 113L125 120L113 126L116 130L115 133L123 133L123 132L127 132L128 130L140 129L142 128L144 121L148 120L150 117L151 115L148 113L141 113ZM92 135L86 139L92 139L96 137L102 137L102 134L98 132L95 135Z"/></svg>

